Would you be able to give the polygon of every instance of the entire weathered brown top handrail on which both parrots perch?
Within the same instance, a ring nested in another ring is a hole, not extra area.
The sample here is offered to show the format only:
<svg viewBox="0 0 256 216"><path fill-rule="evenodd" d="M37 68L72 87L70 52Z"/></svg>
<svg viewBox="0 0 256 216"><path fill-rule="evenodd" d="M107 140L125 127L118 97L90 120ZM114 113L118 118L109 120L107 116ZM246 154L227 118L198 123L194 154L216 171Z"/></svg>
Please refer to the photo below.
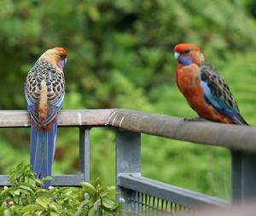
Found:
<svg viewBox="0 0 256 216"><path fill-rule="evenodd" d="M216 122L184 121L142 111L124 109L62 110L59 126L113 126L137 133L151 134L234 150L256 152L256 128ZM0 128L30 127L27 111L0 111Z"/></svg>

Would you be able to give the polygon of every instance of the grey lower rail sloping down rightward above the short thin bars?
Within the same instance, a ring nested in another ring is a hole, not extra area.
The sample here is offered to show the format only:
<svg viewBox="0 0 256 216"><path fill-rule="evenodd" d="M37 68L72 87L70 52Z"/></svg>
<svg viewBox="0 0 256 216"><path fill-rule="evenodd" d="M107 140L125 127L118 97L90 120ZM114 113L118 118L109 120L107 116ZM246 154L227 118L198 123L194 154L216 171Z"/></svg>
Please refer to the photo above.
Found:
<svg viewBox="0 0 256 216"><path fill-rule="evenodd" d="M160 181L140 177L131 173L119 173L118 186L136 190L150 196L160 197L169 202L178 203L185 207L226 206L229 202L213 196L207 196L192 190L167 185Z"/></svg>

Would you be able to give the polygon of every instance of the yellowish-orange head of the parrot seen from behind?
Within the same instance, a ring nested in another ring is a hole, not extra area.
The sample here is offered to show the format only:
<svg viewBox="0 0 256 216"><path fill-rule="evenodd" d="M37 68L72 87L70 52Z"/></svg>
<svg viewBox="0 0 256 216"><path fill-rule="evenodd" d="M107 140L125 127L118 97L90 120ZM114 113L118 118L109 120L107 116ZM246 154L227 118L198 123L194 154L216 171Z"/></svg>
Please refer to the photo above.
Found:
<svg viewBox="0 0 256 216"><path fill-rule="evenodd" d="M67 51L65 48L50 48L40 58L48 60L59 69L63 69L67 62Z"/></svg>

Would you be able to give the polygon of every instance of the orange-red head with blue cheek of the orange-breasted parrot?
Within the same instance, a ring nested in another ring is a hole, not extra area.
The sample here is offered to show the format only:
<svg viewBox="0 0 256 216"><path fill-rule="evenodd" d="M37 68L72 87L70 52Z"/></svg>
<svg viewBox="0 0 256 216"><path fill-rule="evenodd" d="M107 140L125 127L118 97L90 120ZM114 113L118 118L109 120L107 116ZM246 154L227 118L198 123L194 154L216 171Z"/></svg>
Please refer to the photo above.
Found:
<svg viewBox="0 0 256 216"><path fill-rule="evenodd" d="M179 64L190 65L192 63L201 65L205 61L200 48L192 43L179 43L174 48L174 57Z"/></svg>

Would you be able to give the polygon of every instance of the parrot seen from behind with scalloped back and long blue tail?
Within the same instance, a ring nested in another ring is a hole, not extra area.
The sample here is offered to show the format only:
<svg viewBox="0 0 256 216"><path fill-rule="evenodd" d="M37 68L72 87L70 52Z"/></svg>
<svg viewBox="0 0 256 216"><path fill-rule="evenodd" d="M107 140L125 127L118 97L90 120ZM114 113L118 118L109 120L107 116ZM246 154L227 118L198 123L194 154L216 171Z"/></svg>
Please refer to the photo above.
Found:
<svg viewBox="0 0 256 216"><path fill-rule="evenodd" d="M25 82L27 110L31 116L30 163L37 178L51 176L55 155L57 114L65 94L64 48L51 48L40 56ZM49 188L50 181L44 183Z"/></svg>

